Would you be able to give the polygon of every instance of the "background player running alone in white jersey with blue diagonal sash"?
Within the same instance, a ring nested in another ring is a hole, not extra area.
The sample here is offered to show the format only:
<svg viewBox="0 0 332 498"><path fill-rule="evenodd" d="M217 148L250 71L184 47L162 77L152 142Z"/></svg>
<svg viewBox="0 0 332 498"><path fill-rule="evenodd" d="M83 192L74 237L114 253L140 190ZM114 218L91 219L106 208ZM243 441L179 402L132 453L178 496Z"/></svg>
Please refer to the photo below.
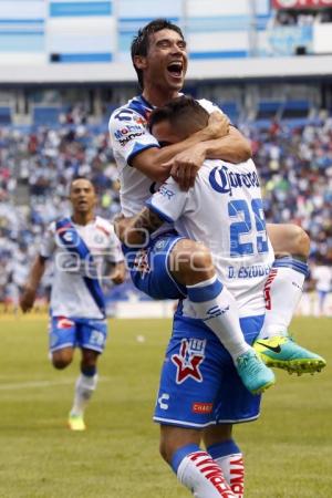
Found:
<svg viewBox="0 0 332 498"><path fill-rule="evenodd" d="M72 217L52 222L31 268L21 297L23 312L31 310L46 260L54 255L50 303L50 352L55 369L65 369L74 349L82 352L69 427L84 430L84 411L97 385L97 359L105 347L107 324L102 278L122 283L125 266L113 226L94 215L96 195L86 178L70 186Z"/></svg>

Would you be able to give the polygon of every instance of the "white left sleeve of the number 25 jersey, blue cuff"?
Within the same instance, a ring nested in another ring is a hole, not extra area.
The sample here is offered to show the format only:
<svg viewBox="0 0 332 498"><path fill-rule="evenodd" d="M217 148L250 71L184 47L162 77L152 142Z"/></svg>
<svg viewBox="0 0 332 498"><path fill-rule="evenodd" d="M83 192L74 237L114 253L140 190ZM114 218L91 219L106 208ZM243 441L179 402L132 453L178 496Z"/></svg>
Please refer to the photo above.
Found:
<svg viewBox="0 0 332 498"><path fill-rule="evenodd" d="M146 206L167 222L176 221L185 214L188 191L180 190L178 184L168 178L147 201Z"/></svg>

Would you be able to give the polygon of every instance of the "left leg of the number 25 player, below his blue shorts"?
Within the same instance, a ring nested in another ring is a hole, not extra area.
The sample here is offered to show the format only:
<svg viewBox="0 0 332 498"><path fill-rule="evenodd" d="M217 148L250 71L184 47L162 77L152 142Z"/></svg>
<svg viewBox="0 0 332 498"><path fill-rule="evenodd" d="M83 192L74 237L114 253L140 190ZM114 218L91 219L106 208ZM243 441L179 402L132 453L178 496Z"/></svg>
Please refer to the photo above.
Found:
<svg viewBox="0 0 332 498"><path fill-rule="evenodd" d="M160 425L160 454L197 498L235 498L221 467L200 448L201 432Z"/></svg>

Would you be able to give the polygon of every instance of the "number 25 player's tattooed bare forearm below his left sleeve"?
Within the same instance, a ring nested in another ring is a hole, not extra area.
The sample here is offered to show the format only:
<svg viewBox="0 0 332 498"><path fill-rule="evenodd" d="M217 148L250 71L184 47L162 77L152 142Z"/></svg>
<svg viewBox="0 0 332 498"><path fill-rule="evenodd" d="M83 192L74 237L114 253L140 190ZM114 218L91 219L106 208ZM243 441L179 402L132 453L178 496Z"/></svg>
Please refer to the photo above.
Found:
<svg viewBox="0 0 332 498"><path fill-rule="evenodd" d="M116 235L127 247L145 246L149 235L157 230L165 219L148 207L131 218L118 217L115 220Z"/></svg>

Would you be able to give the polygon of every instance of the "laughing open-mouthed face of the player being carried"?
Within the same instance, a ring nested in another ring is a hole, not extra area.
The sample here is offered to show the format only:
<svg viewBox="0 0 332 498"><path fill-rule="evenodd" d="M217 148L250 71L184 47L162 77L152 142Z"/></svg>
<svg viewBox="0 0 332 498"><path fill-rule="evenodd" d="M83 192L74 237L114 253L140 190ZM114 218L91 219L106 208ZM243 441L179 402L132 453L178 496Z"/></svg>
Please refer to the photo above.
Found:
<svg viewBox="0 0 332 498"><path fill-rule="evenodd" d="M136 55L134 62L143 72L144 93L160 93L167 102L184 85L188 64L186 42L174 30L156 31L149 34L147 54Z"/></svg>

